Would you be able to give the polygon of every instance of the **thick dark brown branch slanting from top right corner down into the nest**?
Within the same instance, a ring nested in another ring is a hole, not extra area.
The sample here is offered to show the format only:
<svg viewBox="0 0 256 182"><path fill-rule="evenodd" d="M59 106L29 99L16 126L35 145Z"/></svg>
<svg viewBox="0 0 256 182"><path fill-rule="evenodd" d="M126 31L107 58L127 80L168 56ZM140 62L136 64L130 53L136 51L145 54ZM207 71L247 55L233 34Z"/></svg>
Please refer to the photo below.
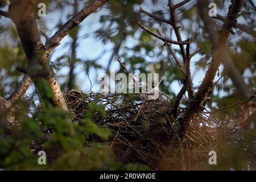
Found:
<svg viewBox="0 0 256 182"><path fill-rule="evenodd" d="M236 17L242 9L242 3L243 0L232 0L232 4L229 6L229 13L227 15L230 22L236 22ZM172 155L172 150L179 142L179 139L183 139L194 115L203 111L203 104L205 103L205 99L212 88L213 79L224 55L226 43L228 42L230 32L232 31L232 24L233 23L225 22L221 28L221 31L219 32L217 44L213 48L213 59L210 63L205 78L200 85L198 92L196 93L196 96L193 98L193 101L191 101L191 104L186 109L184 117L180 121L177 135L172 138L171 144L166 151L167 158Z"/></svg>

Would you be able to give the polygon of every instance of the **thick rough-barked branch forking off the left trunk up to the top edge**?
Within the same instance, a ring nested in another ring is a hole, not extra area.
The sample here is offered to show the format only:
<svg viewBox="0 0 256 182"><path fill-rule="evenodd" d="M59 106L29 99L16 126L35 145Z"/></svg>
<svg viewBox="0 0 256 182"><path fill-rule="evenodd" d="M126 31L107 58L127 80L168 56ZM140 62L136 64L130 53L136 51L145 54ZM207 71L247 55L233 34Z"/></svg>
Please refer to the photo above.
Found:
<svg viewBox="0 0 256 182"><path fill-rule="evenodd" d="M53 48L59 46L61 40L69 34L69 32L80 24L87 16L94 13L99 7L104 5L105 2L109 0L96 0L90 3L88 6L84 7L79 13L77 13L73 18L69 19L67 23L63 25L51 38L46 42L46 49L51 51Z"/></svg>

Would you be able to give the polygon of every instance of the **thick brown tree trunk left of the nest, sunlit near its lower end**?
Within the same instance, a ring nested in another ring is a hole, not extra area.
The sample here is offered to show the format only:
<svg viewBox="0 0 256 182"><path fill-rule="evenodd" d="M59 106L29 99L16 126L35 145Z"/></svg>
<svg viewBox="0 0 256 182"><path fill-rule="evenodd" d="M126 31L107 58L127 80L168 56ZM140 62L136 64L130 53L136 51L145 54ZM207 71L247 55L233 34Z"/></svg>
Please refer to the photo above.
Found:
<svg viewBox="0 0 256 182"><path fill-rule="evenodd" d="M10 18L15 23L28 61L28 67L24 69L24 72L35 82L40 94L42 94L42 90L40 90L40 86L38 85L40 84L40 78L47 80L53 92L53 98L48 98L48 100L53 105L68 110L55 73L48 65L47 52L43 49L44 47L36 26L35 10L39 1L26 0L20 2L13 0L10 3Z"/></svg>

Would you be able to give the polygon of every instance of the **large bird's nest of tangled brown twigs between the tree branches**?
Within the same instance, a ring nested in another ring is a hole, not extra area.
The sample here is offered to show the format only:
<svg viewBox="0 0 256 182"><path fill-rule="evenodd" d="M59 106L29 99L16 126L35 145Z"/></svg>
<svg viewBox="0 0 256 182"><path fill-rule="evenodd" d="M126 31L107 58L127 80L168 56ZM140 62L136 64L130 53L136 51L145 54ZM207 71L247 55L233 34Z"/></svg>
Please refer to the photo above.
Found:
<svg viewBox="0 0 256 182"><path fill-rule="evenodd" d="M141 163L154 169L200 169L205 162L208 163L209 151L218 151L219 146L237 140L234 133L240 132L227 129L207 114L198 114L183 143L176 148L171 159L166 159L166 149L178 127L177 121L170 121L173 105L170 98L161 96L148 100L145 94L86 94L71 90L65 93L65 99L75 115L73 122L77 123L85 117L88 103L104 105L108 115L96 112L92 121L96 125L107 125L113 137L106 142L90 135L90 140L109 144L117 159L123 163ZM181 108L178 115L182 117L183 114ZM162 164L159 165L159 162Z"/></svg>

